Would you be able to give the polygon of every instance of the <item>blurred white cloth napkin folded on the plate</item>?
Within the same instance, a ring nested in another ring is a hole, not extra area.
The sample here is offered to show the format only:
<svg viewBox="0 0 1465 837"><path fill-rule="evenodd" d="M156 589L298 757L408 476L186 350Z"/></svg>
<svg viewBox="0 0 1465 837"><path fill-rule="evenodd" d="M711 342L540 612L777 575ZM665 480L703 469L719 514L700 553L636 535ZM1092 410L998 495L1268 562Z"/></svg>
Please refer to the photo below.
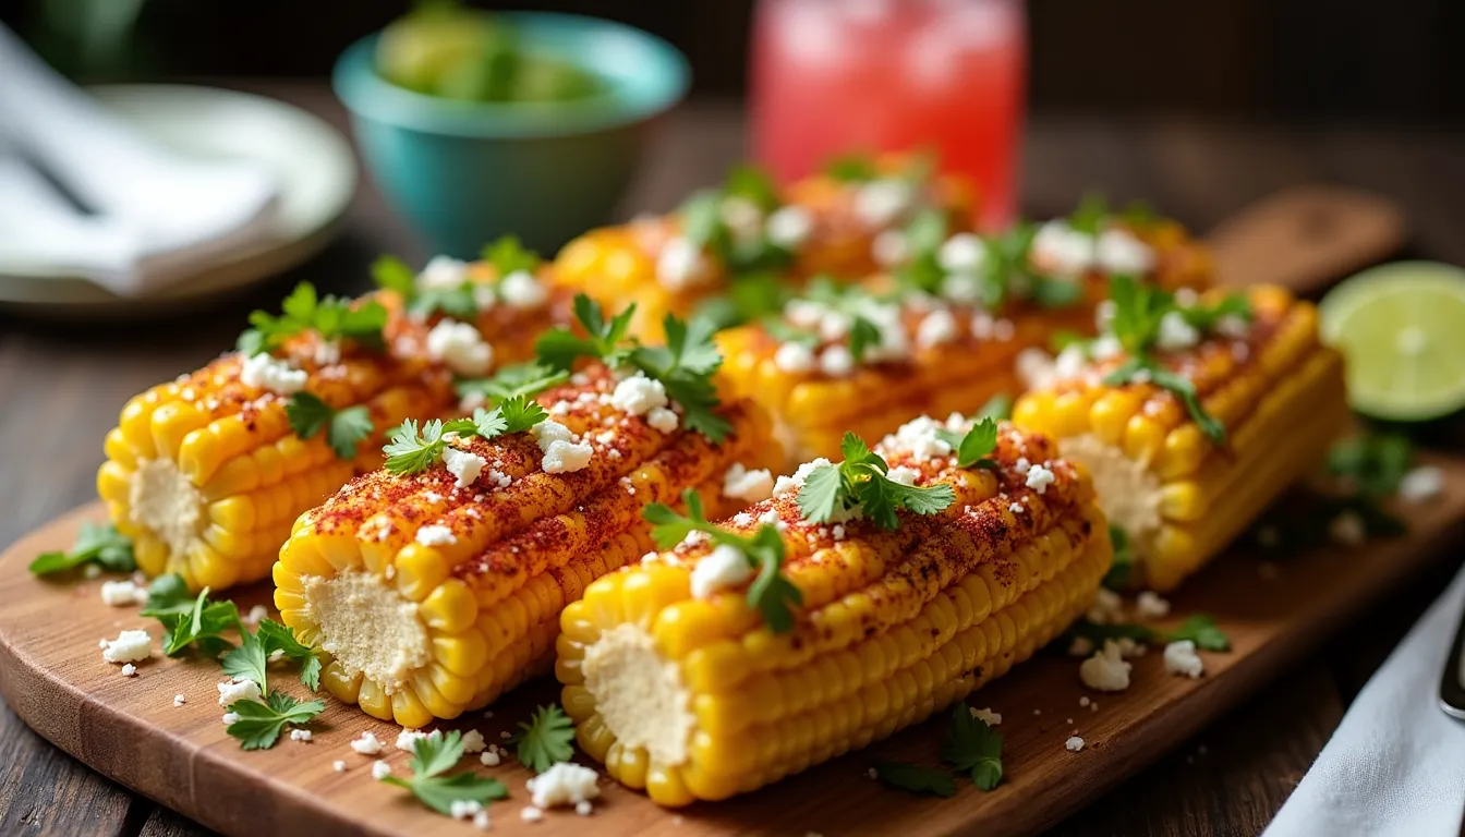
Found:
<svg viewBox="0 0 1465 837"><path fill-rule="evenodd" d="M160 148L3 25L0 79L0 195L10 204L0 210L0 274L72 270L113 293L141 296L274 236L271 172ZM31 161L94 214L26 172Z"/></svg>

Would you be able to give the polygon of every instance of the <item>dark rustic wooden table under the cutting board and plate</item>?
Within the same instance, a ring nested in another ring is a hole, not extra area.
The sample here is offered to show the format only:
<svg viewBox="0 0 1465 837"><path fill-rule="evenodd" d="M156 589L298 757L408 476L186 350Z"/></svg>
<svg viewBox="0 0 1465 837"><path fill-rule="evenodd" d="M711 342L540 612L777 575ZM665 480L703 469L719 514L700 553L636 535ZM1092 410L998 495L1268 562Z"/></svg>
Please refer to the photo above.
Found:
<svg viewBox="0 0 1465 837"><path fill-rule="evenodd" d="M324 84L233 86L293 101L344 129L344 114ZM1086 189L1097 188L1116 201L1149 199L1204 232L1276 189L1327 180L1399 201L1412 233L1408 255L1465 264L1462 147L1462 132L1039 116L1024 148L1024 210L1062 213ZM671 208L693 186L716 180L741 150L737 107L694 103L680 108L667 119L624 213ZM0 545L92 497L100 440L129 396L211 359L233 343L248 311L272 306L294 281L309 279L343 293L363 290L365 267L382 252L409 261L426 255L363 180L344 233L325 254L208 311L125 325L0 314ZM1465 443L1458 425L1425 432L1436 444L1459 449ZM1458 557L1437 561L1304 665L1053 833L1258 833L1455 566ZM201 833L186 818L51 748L0 704L0 834Z"/></svg>

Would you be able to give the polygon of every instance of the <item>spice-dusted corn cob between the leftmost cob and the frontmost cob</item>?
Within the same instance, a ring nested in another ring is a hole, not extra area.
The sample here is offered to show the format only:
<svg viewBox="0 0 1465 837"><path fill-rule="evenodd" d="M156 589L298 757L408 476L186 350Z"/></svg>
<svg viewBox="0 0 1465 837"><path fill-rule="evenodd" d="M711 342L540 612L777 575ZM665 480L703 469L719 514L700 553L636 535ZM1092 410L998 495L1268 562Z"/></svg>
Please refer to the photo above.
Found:
<svg viewBox="0 0 1465 837"><path fill-rule="evenodd" d="M302 642L330 655L333 695L406 727L489 704L549 670L564 604L649 550L645 504L696 487L716 509L737 509L747 472L776 468L768 419L749 402L718 409L732 432L712 444L620 410L604 366L574 380L539 402L561 437L587 446L577 463L552 462L565 440L548 425L461 440L450 450L483 462L469 485L444 466L375 471L294 523L274 601Z"/></svg>

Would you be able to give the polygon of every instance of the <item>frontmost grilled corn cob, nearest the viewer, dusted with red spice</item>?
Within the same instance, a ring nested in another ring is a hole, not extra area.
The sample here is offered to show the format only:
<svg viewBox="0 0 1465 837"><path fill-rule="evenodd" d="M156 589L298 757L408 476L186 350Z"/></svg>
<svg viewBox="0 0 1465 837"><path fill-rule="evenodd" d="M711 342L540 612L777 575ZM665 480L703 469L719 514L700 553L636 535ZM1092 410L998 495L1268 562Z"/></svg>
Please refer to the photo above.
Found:
<svg viewBox="0 0 1465 837"><path fill-rule="evenodd" d="M557 644L580 748L661 805L725 799L919 723L1064 630L1112 560L1087 475L1011 427L993 469L958 469L941 427L919 419L876 451L891 473L949 485L943 512L902 513L894 531L812 525L795 475L719 523L750 535L776 520L803 600L785 633L741 591L699 583L722 548L706 539L592 583Z"/></svg>

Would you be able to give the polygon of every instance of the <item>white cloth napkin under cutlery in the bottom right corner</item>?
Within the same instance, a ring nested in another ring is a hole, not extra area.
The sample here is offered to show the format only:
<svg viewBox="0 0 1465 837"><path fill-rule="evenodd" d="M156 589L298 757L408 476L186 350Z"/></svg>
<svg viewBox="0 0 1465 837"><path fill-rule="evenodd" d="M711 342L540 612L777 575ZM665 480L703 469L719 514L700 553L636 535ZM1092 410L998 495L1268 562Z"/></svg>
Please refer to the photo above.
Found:
<svg viewBox="0 0 1465 837"><path fill-rule="evenodd" d="M1465 721L1439 707L1465 570L1348 708L1263 837L1458 837ZM1459 661L1456 661L1459 664Z"/></svg>

